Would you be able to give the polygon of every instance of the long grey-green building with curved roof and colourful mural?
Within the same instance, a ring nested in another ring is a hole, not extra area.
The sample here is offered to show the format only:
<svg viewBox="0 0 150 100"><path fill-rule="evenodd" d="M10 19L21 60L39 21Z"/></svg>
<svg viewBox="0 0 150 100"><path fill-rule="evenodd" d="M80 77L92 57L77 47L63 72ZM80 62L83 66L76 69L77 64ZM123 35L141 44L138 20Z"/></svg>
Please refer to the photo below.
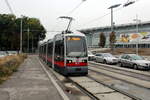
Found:
<svg viewBox="0 0 150 100"><path fill-rule="evenodd" d="M89 28L79 30L87 36L87 44L89 47L99 47L99 35L104 33L106 36L106 45L109 47L109 34L111 33L111 26ZM149 43L150 44L150 21L143 23L130 23L121 24L114 26L114 32L116 35L116 44L135 44L137 41L139 43ZM147 39L144 40L144 38Z"/></svg>

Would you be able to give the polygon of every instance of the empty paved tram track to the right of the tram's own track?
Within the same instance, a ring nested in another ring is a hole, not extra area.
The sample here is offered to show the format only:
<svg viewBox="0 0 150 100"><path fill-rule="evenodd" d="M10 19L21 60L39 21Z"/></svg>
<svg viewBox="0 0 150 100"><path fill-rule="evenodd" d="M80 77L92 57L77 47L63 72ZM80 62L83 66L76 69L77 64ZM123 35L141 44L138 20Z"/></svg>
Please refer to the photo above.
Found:
<svg viewBox="0 0 150 100"><path fill-rule="evenodd" d="M119 78L121 74L117 74L116 77L116 75L110 74L109 72L103 73L102 69L91 69L93 69L93 67L91 68L89 66L89 76L95 80L98 80L98 82L113 87L120 92L133 95L141 100L149 100L150 89L149 87L145 87L144 84L140 83L140 80L138 82L134 80L131 81L128 80L128 78Z"/></svg>

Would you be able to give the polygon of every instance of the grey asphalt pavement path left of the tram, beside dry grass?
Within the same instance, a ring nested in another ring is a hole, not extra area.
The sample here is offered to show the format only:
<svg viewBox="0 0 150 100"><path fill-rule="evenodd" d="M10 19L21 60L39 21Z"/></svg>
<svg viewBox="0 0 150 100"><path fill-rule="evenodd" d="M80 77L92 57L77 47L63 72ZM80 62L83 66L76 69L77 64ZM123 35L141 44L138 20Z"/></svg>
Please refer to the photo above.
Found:
<svg viewBox="0 0 150 100"><path fill-rule="evenodd" d="M10 79L0 85L0 100L62 100L38 57L28 56Z"/></svg>

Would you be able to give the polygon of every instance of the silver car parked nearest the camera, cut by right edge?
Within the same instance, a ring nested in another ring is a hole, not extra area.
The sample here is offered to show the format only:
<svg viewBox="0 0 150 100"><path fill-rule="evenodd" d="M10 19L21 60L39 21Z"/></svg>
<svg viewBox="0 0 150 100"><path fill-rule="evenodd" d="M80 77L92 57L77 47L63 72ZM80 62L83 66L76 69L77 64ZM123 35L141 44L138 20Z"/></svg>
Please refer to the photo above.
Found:
<svg viewBox="0 0 150 100"><path fill-rule="evenodd" d="M150 61L136 54L123 54L119 58L119 66L131 67L134 69L150 69Z"/></svg>

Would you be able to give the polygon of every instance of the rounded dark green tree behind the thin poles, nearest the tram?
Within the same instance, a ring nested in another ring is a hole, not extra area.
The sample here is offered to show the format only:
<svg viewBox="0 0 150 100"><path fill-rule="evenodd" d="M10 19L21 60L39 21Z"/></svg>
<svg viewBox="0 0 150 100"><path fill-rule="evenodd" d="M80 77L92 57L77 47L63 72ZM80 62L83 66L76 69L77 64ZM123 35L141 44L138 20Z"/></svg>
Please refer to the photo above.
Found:
<svg viewBox="0 0 150 100"><path fill-rule="evenodd" d="M16 20L17 29L20 29L20 22L21 18ZM36 49L38 47L38 41L43 40L45 38L46 30L44 26L41 24L40 20L37 18L29 18L26 16L22 17L22 44L23 44L23 51L28 52L28 42L29 42L29 52L32 52L32 48ZM29 29L29 33L28 33ZM20 31L20 30L19 30ZM29 40L28 40L29 38Z"/></svg>

